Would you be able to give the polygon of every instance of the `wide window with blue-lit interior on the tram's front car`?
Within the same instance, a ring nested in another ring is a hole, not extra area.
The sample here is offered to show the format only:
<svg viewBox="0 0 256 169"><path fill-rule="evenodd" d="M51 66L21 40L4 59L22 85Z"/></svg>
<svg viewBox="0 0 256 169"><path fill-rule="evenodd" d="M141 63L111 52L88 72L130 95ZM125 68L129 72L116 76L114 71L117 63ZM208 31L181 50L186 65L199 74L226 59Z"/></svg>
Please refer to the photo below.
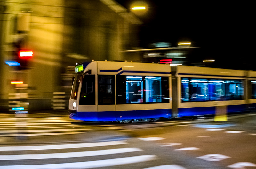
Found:
<svg viewBox="0 0 256 169"><path fill-rule="evenodd" d="M116 104L169 103L168 77L116 75Z"/></svg>

